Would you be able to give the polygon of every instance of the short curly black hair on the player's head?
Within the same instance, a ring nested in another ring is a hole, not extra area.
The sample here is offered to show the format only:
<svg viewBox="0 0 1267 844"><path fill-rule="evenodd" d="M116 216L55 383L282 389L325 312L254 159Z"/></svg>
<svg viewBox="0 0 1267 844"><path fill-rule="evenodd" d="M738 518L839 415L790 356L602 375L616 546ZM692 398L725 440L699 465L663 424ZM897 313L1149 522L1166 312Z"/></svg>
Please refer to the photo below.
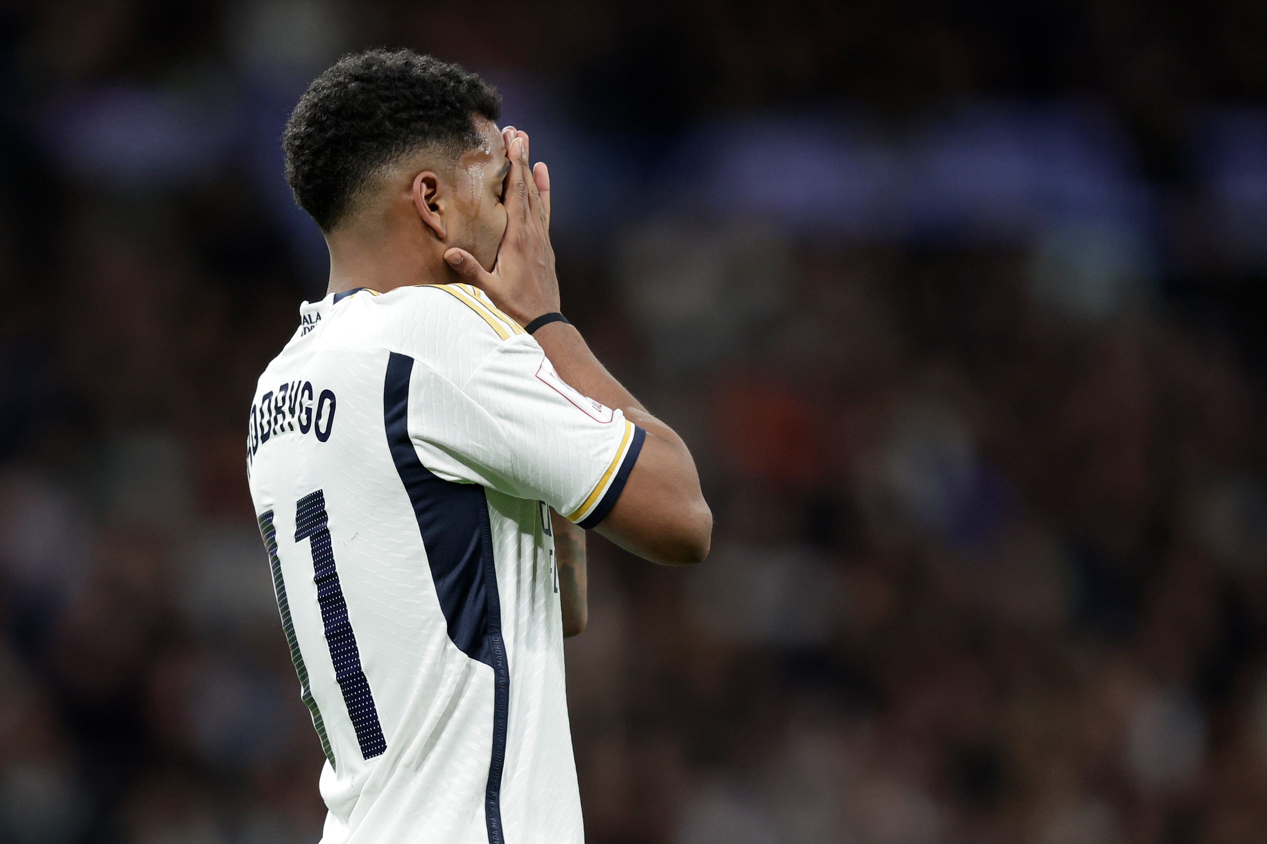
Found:
<svg viewBox="0 0 1267 844"><path fill-rule="evenodd" d="M438 146L475 148L473 115L497 120L502 96L475 73L411 49L369 49L313 80L286 121L286 182L323 232L350 210L378 168Z"/></svg>

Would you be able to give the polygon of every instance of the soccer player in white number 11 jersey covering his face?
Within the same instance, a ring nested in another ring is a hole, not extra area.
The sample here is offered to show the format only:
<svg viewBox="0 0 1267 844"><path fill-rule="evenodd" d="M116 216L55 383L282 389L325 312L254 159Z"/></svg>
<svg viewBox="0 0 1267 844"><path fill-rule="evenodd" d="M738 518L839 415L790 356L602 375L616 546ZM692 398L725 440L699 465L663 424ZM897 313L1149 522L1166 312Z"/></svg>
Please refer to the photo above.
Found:
<svg viewBox="0 0 1267 844"><path fill-rule="evenodd" d="M329 245L251 406L248 477L324 844L583 840L564 691L584 529L708 553L682 439L559 313L550 176L478 76L348 56L286 125Z"/></svg>

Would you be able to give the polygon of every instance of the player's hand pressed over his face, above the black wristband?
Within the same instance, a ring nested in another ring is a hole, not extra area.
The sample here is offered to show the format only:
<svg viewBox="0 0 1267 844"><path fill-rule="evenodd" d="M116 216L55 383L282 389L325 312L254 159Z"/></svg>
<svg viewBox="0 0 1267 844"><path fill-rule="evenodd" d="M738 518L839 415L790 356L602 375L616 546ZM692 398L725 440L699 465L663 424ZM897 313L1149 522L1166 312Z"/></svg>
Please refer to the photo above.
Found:
<svg viewBox="0 0 1267 844"><path fill-rule="evenodd" d="M507 219L493 271L485 271L469 252L456 247L445 252L445 261L519 325L527 325L559 310L559 278L550 245L550 171L544 162L528 166L526 132L507 129L504 137L511 159L504 191Z"/></svg>

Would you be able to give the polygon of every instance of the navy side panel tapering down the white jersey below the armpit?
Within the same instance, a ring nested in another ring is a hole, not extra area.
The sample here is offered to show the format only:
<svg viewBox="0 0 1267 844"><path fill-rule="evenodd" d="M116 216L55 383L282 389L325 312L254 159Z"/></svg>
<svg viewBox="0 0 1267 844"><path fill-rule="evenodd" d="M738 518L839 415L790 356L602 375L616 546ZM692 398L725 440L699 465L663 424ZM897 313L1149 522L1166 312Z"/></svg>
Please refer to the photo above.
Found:
<svg viewBox="0 0 1267 844"><path fill-rule="evenodd" d="M493 748L484 792L484 819L489 844L503 844L500 793L511 672L502 640L488 499L484 487L441 480L418 459L409 437L412 376L413 358L393 352L383 385L388 447L418 520L449 638L468 657L493 668Z"/></svg>

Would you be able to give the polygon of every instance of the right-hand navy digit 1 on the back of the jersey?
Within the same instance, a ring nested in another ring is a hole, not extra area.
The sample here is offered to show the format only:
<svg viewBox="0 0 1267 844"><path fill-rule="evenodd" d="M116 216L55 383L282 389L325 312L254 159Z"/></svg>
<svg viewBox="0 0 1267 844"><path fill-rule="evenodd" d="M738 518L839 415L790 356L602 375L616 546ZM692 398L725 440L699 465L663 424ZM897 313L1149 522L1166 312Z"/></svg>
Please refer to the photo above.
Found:
<svg viewBox="0 0 1267 844"><path fill-rule="evenodd" d="M388 749L374 706L370 683L361 669L361 652L356 648L356 635L347 619L347 602L334 568L334 549L329 542L329 518L326 514L326 495L317 490L299 499L295 505L295 542L308 539L313 550L313 582L317 583L317 604L326 625L326 643L334 663L334 680L343 692L347 715L356 729L356 743L361 755L372 759Z"/></svg>

